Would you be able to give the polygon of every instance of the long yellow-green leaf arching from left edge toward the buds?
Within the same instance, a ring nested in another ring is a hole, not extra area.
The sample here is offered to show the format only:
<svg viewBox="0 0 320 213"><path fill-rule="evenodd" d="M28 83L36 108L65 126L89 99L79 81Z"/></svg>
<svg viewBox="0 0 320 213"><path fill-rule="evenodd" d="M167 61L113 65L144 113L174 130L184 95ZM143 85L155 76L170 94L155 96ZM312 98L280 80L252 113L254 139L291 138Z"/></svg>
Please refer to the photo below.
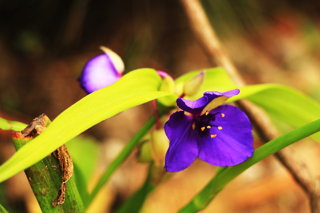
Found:
<svg viewBox="0 0 320 213"><path fill-rule="evenodd" d="M51 125L0 166L0 182L40 161L93 125L152 99L170 95L158 91L160 76L154 69L138 69L116 83L95 91L62 112Z"/></svg>

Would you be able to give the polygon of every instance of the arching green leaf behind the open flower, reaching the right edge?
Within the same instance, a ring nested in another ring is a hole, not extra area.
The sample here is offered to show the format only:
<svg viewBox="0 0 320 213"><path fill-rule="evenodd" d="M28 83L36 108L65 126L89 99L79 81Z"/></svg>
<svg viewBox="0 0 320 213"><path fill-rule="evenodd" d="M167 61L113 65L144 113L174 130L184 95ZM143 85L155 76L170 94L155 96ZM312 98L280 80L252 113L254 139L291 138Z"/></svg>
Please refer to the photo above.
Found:
<svg viewBox="0 0 320 213"><path fill-rule="evenodd" d="M289 86L280 84L256 84L240 88L238 97L228 101L247 98L262 107L273 120L280 120L293 128L297 128L320 118L320 104ZM282 123L274 122L279 130ZM279 125L277 125L279 124ZM283 133L286 130L282 131ZM320 142L320 133L312 136Z"/></svg>

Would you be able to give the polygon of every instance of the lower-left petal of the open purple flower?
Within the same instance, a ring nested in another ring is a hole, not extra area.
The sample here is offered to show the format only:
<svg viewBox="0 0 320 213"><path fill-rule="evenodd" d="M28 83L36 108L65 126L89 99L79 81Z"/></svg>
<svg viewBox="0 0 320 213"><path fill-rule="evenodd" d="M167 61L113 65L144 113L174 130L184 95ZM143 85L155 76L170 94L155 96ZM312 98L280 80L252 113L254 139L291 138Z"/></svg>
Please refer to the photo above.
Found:
<svg viewBox="0 0 320 213"><path fill-rule="evenodd" d="M185 115L183 111L175 112L164 124L164 130L170 140L164 168L169 172L184 170L198 156L192 117Z"/></svg>

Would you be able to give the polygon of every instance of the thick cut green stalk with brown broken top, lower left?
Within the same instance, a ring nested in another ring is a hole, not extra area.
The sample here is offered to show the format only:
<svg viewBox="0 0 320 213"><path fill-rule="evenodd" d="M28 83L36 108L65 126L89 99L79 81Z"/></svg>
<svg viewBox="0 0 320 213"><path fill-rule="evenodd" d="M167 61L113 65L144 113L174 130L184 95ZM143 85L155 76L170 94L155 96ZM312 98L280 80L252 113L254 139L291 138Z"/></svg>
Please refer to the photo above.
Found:
<svg viewBox="0 0 320 213"><path fill-rule="evenodd" d="M12 138L16 150L44 131L50 123L49 118L43 114L22 132L13 132ZM25 173L43 212L85 212L84 204L72 177L66 182L64 203L52 208L52 201L57 197L62 183L60 163L53 154L26 169Z"/></svg>

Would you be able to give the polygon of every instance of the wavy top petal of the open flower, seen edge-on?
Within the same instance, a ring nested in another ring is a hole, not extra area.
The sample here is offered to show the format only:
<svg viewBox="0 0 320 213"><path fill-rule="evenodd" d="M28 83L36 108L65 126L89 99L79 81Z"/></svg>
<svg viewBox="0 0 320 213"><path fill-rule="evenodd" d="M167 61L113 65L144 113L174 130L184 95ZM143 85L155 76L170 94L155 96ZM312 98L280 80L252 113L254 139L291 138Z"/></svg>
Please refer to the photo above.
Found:
<svg viewBox="0 0 320 213"><path fill-rule="evenodd" d="M239 94L239 92L240 92L239 89L230 90L227 92L217 92L217 91L204 92L203 97L194 101L178 98L177 105L183 111L189 112L194 115L199 115L204 109L204 107L207 106L207 104L209 104L213 99L219 96L226 96L230 98L234 95Z"/></svg>

